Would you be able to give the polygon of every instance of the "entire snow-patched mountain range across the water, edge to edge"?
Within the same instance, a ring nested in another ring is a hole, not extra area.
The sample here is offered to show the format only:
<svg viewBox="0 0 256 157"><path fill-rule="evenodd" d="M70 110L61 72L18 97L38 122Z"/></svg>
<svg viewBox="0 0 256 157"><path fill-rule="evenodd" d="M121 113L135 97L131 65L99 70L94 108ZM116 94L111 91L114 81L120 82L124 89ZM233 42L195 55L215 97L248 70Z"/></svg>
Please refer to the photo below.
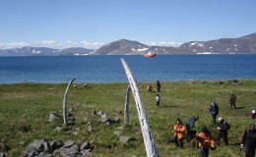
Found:
<svg viewBox="0 0 256 157"><path fill-rule="evenodd" d="M58 56L58 55L142 55L154 52L171 54L256 54L256 33L238 38L221 38L210 41L189 41L179 47L149 46L138 41L120 39L98 49L73 47L53 49L47 47L23 47L0 49L0 56Z"/></svg>

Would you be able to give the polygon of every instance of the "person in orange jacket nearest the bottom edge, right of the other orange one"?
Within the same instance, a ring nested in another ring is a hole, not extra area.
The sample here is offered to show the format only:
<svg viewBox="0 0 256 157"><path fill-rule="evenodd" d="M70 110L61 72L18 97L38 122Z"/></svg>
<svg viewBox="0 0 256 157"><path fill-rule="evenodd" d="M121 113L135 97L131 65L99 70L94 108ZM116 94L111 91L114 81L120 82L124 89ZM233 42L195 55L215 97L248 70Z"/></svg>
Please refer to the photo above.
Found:
<svg viewBox="0 0 256 157"><path fill-rule="evenodd" d="M216 149L215 140L207 127L203 127L202 132L196 134L196 139L199 142L201 157L208 157L210 148L212 150Z"/></svg>

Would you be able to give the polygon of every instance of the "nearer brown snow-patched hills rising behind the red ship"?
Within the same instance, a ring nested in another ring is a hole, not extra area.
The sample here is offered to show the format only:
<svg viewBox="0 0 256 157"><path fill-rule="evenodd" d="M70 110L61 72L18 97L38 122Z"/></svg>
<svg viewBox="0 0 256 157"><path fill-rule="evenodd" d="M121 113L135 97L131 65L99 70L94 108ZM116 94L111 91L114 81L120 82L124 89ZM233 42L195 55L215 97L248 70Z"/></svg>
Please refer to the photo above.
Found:
<svg viewBox="0 0 256 157"><path fill-rule="evenodd" d="M141 55L149 51L171 54L256 54L256 33L238 38L189 41L179 47L148 46L137 41L117 40L96 50L94 55Z"/></svg>

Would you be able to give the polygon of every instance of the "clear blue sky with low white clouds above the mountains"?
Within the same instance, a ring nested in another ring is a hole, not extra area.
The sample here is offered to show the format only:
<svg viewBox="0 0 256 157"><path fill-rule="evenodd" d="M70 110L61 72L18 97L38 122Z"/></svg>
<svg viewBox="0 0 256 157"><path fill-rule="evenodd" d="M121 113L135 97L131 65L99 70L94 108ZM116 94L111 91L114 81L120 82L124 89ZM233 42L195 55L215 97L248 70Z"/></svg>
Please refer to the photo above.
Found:
<svg viewBox="0 0 256 157"><path fill-rule="evenodd" d="M178 46L255 32L256 0L0 0L0 49Z"/></svg>

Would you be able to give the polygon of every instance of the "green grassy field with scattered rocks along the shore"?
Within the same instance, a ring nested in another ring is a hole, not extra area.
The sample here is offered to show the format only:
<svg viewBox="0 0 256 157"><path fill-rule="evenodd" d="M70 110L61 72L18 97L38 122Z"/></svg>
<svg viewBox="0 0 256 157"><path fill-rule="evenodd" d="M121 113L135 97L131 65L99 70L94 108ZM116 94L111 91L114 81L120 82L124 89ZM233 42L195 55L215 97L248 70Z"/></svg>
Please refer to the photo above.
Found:
<svg viewBox="0 0 256 157"><path fill-rule="evenodd" d="M147 86L152 83L154 91L147 92ZM77 143L91 141L95 149L92 156L146 156L144 141L141 133L138 113L133 95L130 99L130 124L124 125L124 104L128 83L89 83L71 86L68 94L68 108L73 107L76 125L63 127L60 123L48 123L49 113L62 113L62 101L67 84L17 83L0 84L0 139L11 150L8 156L21 156L33 139L47 138L48 140L73 140ZM220 115L230 125L228 133L229 145L221 146L210 151L212 157L236 157L243 131L250 123L248 119L252 109L256 109L256 80L216 81L166 81L161 82L160 107L156 106L156 82L138 82L142 100L148 115L153 136L159 154L168 156L194 156L195 149L185 141L184 149L176 149L171 142L173 125L176 118L184 123L190 116L200 116L195 130L200 131L207 126L214 136L217 129L211 126L211 116L208 108L215 99L220 107ZM230 92L237 95L237 107L229 108ZM107 126L98 123L98 118L92 118L92 111L103 111L110 119L120 118L120 124ZM86 120L92 120L94 131L87 131ZM21 128L27 126L28 131ZM53 131L57 126L65 130ZM116 128L123 127L123 135L137 137L137 141L122 144L113 133ZM80 128L78 134L73 134ZM23 141L25 144L21 144Z"/></svg>

